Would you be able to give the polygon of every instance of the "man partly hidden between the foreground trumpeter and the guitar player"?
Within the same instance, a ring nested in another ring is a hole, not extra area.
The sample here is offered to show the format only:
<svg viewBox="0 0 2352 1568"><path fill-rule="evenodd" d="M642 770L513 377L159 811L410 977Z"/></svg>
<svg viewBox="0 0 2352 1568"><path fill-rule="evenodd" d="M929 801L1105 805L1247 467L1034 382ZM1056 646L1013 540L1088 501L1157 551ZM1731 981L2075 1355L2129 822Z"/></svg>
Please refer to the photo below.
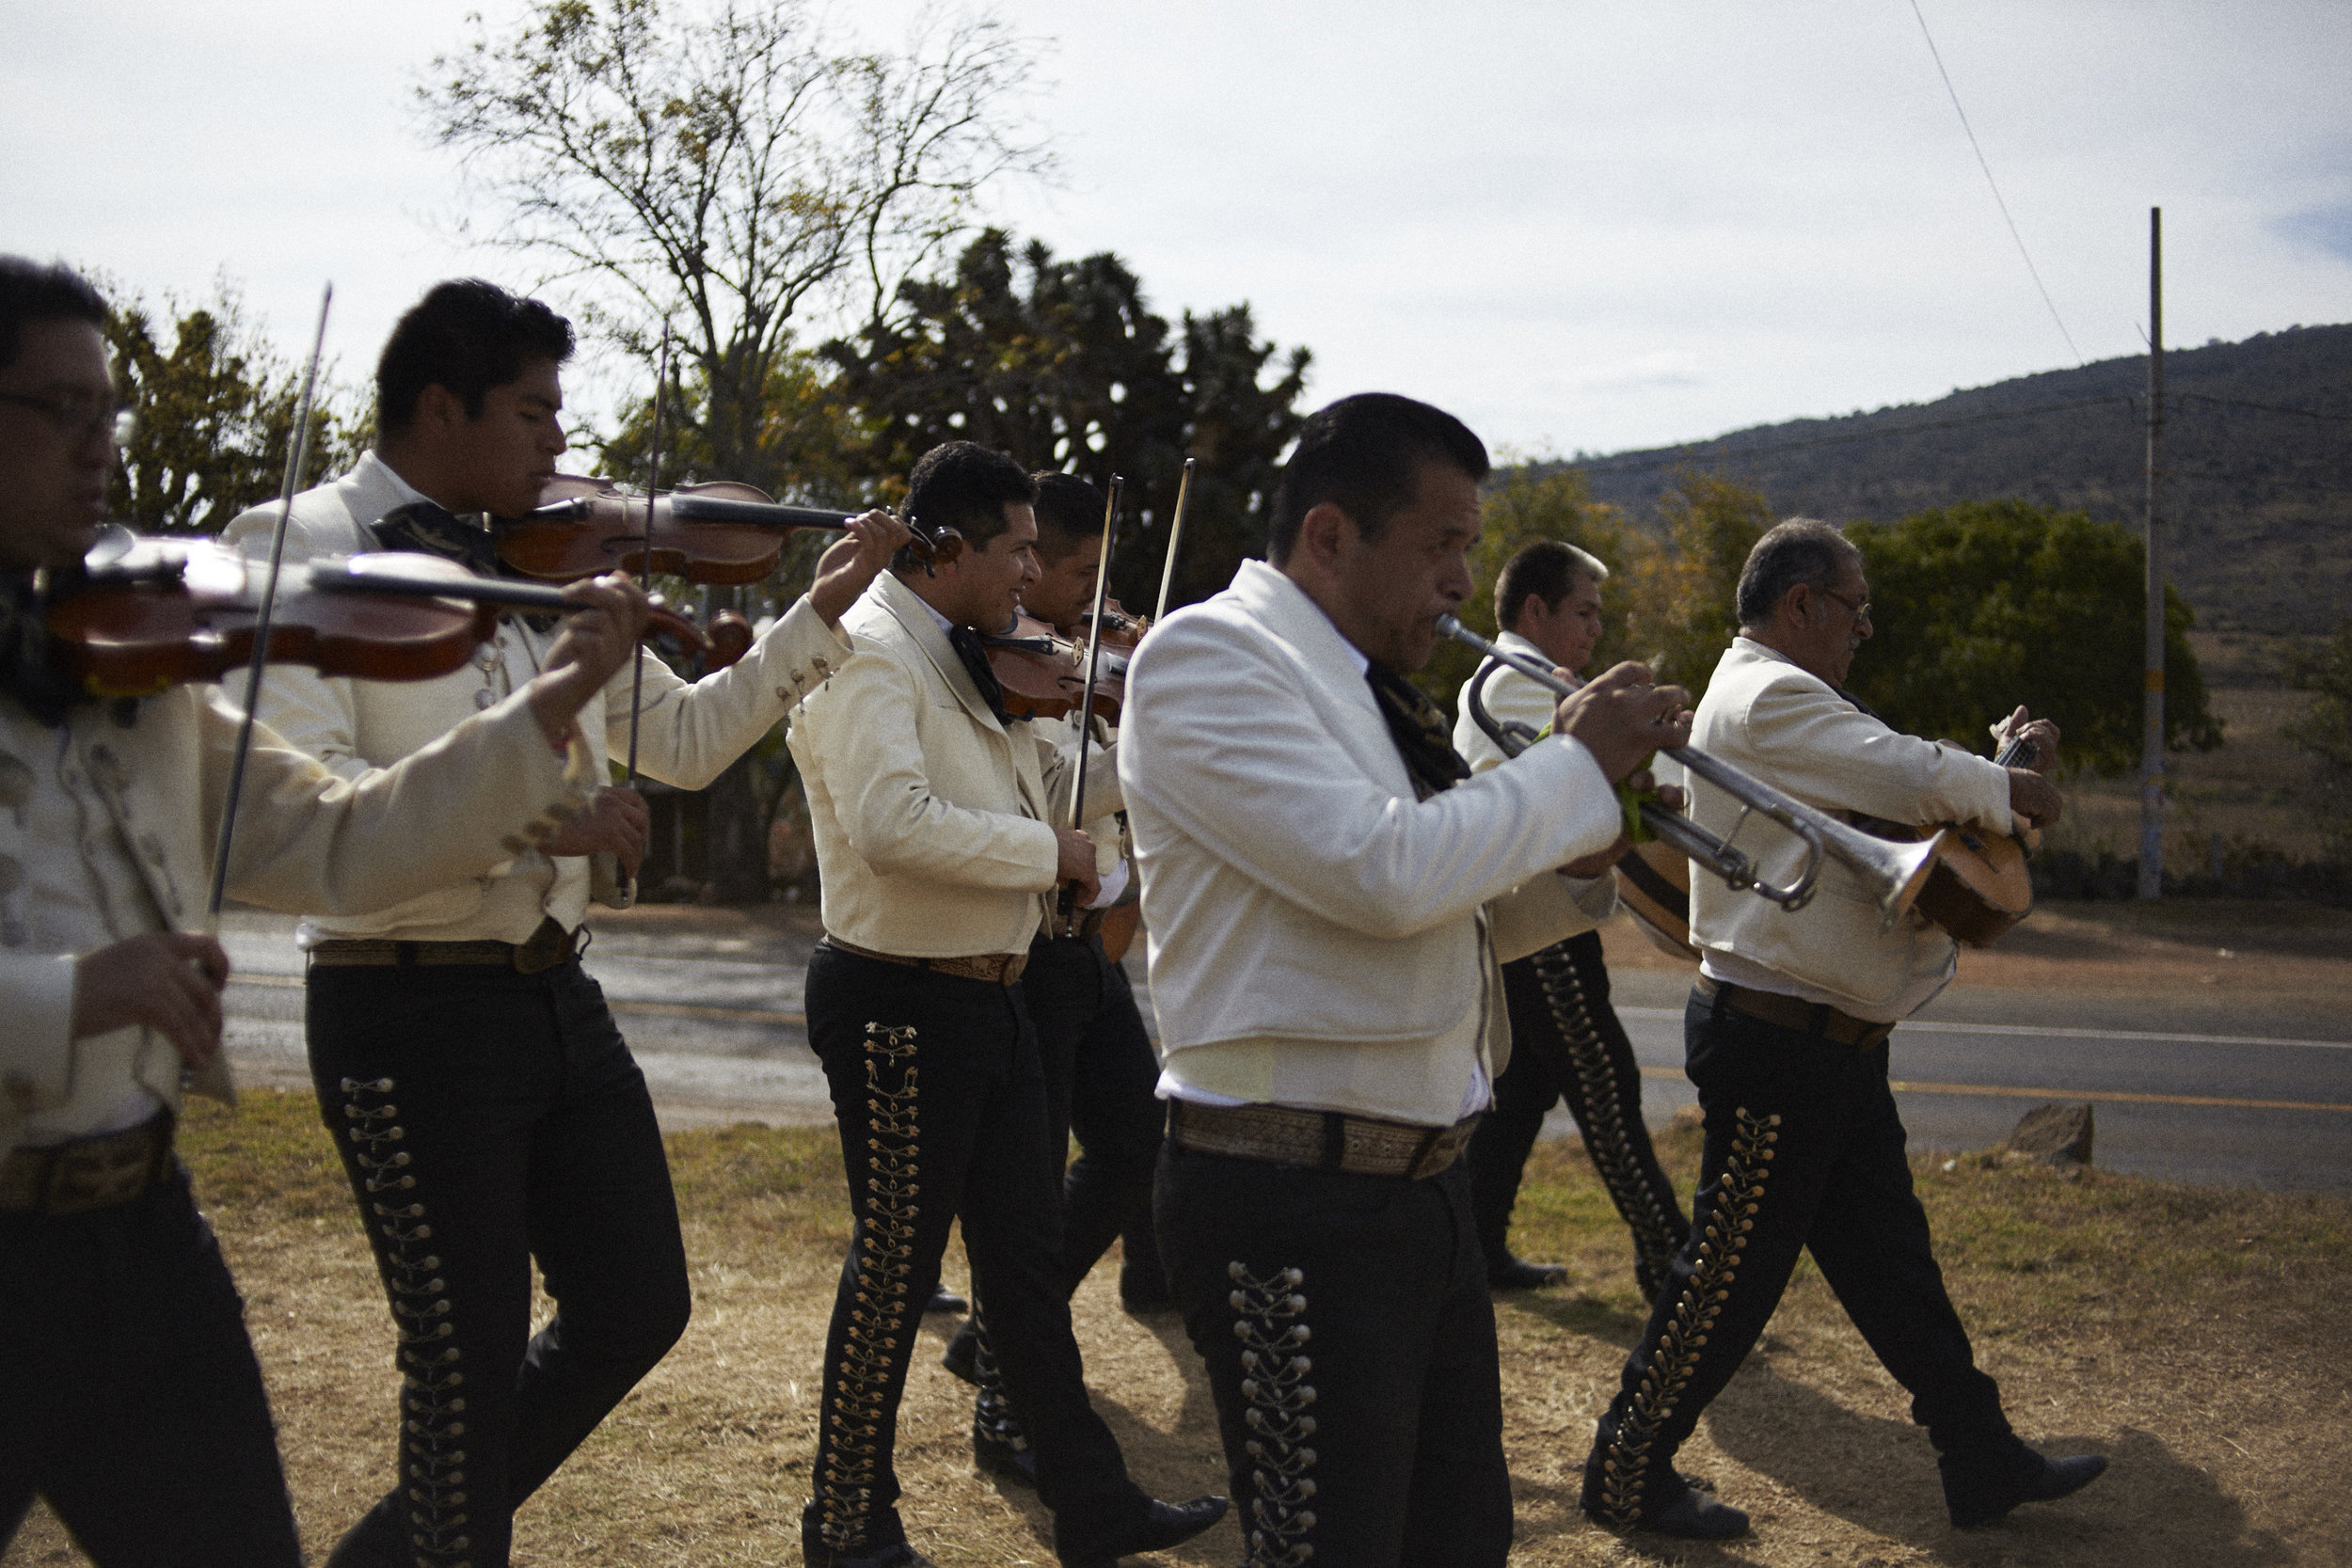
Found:
<svg viewBox="0 0 2352 1568"><path fill-rule="evenodd" d="M1534 654L1555 670L1583 670L1602 635L1606 578L1609 567L1585 550L1538 538L1503 562L1494 583L1494 614L1501 623L1496 642L1512 654ZM1482 698L1491 717L1517 719L1529 729L1543 729L1557 701L1510 665L1498 665L1486 677ZM1470 715L1468 682L1456 708L1454 748L1472 769L1501 764L1503 748ZM1494 1112L1463 1154L1470 1164L1470 1211L1486 1253L1486 1284L1531 1291L1569 1276L1557 1262L1522 1262L1510 1255L1519 1171L1543 1131L1545 1112L1566 1100L1592 1168L1632 1232L1632 1276L1642 1300L1656 1300L1658 1281L1691 1234L1691 1222L1642 1124L1642 1065L1625 1025L1609 1006L1602 933L1585 931L1505 964L1503 992L1510 999L1510 1070L1494 1081Z"/></svg>

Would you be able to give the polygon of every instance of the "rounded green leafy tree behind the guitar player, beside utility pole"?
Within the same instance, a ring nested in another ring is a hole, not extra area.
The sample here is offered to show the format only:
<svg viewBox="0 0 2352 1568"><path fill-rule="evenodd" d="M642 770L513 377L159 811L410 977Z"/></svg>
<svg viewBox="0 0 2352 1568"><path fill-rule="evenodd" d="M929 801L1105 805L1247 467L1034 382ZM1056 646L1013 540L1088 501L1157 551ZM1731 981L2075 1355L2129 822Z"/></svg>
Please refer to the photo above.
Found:
<svg viewBox="0 0 2352 1568"><path fill-rule="evenodd" d="M2027 501L1969 501L1846 529L1870 574L1875 637L1853 691L1889 724L1983 750L2018 703L2065 731L2070 766L2129 773L2140 759L2143 545L2112 522ZM2194 616L2166 590L2164 733L2213 750L2190 651Z"/></svg>

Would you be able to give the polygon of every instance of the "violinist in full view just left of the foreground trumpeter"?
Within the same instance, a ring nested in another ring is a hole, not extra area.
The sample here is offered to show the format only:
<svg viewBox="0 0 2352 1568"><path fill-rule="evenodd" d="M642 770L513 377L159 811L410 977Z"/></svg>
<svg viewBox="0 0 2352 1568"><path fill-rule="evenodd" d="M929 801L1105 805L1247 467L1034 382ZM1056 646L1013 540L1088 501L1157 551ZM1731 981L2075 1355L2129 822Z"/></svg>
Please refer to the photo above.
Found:
<svg viewBox="0 0 2352 1568"><path fill-rule="evenodd" d="M1061 1561L1108 1568L1225 1512L1223 1497L1152 1502L1127 1476L1070 1333L1063 1150L1049 1147L1021 971L1056 889L1084 907L1101 875L1094 842L1065 820L1075 757L1007 722L978 639L1011 625L1037 583L1035 498L1004 454L927 451L906 517L931 557L903 557L849 611L856 651L790 733L823 877L809 1044L851 1211L800 1526L811 1568L929 1561L906 1540L891 1455L915 1324L957 1218ZM1098 799L1117 809L1115 788Z"/></svg>

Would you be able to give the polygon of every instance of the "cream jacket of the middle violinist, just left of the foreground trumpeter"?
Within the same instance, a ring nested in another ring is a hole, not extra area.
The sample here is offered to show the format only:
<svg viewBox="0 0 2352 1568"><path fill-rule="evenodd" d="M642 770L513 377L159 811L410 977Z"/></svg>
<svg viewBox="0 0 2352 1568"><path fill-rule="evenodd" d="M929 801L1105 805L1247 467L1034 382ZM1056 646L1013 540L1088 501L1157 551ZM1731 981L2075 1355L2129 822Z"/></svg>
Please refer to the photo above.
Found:
<svg viewBox="0 0 2352 1568"><path fill-rule="evenodd" d="M915 590L875 578L851 656L807 698L790 748L809 797L830 936L917 959L1028 952L1054 905L1065 757L1000 724ZM1117 811L1096 752L1087 813Z"/></svg>

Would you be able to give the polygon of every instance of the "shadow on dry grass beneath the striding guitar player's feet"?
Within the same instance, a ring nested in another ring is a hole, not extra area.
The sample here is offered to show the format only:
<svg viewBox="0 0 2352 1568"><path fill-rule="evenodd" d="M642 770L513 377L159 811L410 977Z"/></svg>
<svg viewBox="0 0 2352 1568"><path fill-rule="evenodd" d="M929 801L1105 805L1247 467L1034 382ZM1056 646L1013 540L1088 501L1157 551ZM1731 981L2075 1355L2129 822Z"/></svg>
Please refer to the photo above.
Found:
<svg viewBox="0 0 2352 1568"><path fill-rule="evenodd" d="M2147 1432L2025 1434L2042 1453L2107 1453L2112 1467L2084 1493L2025 1505L1985 1530L1955 1530L1943 1509L1926 1432L1860 1415L1828 1394L1750 1361L1708 1408L1708 1436L1731 1460L1771 1476L1806 1505L1900 1540L1959 1568L2270 1568L2296 1561L2277 1535L2197 1465ZM1736 1488L1733 1488L1736 1490ZM1731 1495L1726 1502L1743 1502ZM1759 1519L1759 1530L1771 1530ZM1677 1554L1679 1561L1708 1561ZM1736 1561L1736 1559L1724 1559Z"/></svg>

